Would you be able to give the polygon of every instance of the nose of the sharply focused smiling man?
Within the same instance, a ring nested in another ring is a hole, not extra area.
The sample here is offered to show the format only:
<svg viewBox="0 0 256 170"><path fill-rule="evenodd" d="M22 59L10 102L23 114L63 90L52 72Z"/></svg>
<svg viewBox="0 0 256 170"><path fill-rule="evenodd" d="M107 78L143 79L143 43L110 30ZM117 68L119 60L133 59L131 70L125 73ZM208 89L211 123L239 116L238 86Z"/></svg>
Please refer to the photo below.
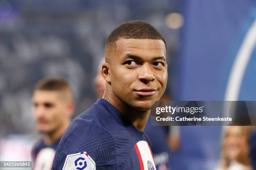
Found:
<svg viewBox="0 0 256 170"><path fill-rule="evenodd" d="M154 72L151 70L150 64L141 65L139 70L139 80L145 84L155 80Z"/></svg>

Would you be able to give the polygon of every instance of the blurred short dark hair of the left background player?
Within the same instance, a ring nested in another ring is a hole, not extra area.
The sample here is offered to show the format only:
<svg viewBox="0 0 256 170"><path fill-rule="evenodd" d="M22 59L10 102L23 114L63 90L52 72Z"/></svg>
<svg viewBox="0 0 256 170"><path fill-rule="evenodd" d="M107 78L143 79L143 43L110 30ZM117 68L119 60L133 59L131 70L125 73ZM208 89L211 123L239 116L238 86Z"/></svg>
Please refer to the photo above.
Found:
<svg viewBox="0 0 256 170"><path fill-rule="evenodd" d="M41 79L37 83L35 90L62 92L70 100L73 100L72 88L70 87L69 83L63 78L46 77L44 79Z"/></svg>

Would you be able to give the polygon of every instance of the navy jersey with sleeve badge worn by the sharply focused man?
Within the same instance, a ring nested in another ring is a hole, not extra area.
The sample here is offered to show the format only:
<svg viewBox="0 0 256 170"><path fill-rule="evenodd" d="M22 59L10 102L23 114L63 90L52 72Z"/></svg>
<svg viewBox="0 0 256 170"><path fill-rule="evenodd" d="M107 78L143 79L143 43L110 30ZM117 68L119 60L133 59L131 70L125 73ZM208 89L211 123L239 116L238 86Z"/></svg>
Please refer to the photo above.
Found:
<svg viewBox="0 0 256 170"><path fill-rule="evenodd" d="M156 170L147 135L100 98L76 117L56 150L53 170Z"/></svg>

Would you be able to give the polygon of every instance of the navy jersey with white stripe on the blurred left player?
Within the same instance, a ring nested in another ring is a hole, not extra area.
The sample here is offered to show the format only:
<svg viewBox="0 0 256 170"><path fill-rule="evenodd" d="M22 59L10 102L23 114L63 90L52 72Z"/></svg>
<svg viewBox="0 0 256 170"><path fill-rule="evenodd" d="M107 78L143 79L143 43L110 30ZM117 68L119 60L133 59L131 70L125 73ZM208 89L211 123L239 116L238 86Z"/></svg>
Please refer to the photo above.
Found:
<svg viewBox="0 0 256 170"><path fill-rule="evenodd" d="M49 170L51 169L54 160L55 150L59 144L56 141L52 145L46 145L44 140L41 140L32 150L33 170Z"/></svg>

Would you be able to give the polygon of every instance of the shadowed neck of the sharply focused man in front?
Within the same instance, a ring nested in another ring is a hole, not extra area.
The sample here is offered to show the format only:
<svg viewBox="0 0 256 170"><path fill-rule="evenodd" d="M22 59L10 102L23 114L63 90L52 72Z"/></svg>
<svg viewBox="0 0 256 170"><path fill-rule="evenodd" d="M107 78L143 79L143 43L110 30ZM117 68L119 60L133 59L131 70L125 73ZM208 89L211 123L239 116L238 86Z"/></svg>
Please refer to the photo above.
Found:
<svg viewBox="0 0 256 170"><path fill-rule="evenodd" d="M108 92L106 90L102 98L115 106L115 108L117 108L124 115L125 118L130 120L133 125L138 128L138 130L143 131L148 121L150 110L137 110L127 105L125 102L116 97L113 93L110 93L112 92Z"/></svg>

